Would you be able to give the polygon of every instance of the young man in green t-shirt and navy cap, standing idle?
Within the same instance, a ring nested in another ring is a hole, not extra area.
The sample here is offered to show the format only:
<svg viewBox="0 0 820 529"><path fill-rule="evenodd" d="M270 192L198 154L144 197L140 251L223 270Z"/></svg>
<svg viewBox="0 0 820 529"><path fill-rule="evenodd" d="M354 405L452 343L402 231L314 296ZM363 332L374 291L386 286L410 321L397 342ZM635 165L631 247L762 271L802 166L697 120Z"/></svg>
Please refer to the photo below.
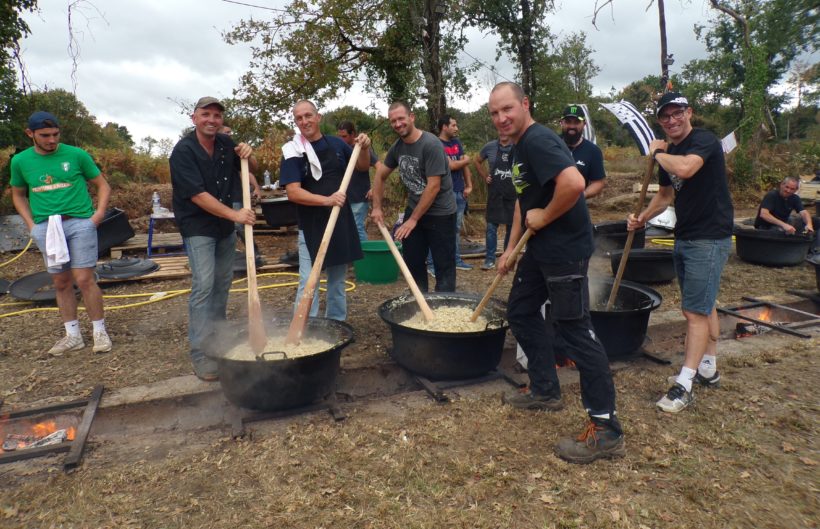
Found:
<svg viewBox="0 0 820 529"><path fill-rule="evenodd" d="M111 187L87 152L60 143L60 124L48 112L29 117L33 146L11 159L14 207L46 261L66 329L48 353L59 356L85 347L77 320L76 284L94 327L94 352L111 350L105 331L102 292L97 286L97 226L105 216ZM97 208L86 182L97 188Z"/></svg>

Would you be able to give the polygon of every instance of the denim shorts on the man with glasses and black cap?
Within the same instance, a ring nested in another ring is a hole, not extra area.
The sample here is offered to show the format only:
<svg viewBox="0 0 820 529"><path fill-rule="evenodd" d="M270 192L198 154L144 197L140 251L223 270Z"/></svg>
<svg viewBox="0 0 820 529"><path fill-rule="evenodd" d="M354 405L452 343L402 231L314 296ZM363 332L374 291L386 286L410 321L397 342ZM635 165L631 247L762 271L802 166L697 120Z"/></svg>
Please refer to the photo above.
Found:
<svg viewBox="0 0 820 529"><path fill-rule="evenodd" d="M720 290L720 274L731 249L731 237L675 241L673 259L683 310L706 316L712 313Z"/></svg>

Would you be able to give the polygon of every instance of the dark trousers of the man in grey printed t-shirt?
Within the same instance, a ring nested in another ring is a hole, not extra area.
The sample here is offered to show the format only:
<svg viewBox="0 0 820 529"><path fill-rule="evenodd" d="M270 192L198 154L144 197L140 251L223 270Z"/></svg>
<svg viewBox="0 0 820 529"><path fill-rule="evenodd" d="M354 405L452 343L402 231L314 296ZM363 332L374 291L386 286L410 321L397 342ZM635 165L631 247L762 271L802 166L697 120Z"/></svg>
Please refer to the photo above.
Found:
<svg viewBox="0 0 820 529"><path fill-rule="evenodd" d="M411 209L404 212L409 219ZM424 215L402 241L404 261L422 292L427 292L427 252L433 256L436 292L456 290L456 215Z"/></svg>

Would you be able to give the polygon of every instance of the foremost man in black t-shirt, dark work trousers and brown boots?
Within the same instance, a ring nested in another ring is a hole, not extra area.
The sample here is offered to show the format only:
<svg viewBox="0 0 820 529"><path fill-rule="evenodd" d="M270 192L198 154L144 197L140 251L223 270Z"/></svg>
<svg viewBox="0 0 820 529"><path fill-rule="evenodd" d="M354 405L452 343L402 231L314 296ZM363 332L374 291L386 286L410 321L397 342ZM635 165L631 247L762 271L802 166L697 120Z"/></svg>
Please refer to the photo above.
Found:
<svg viewBox="0 0 820 529"><path fill-rule="evenodd" d="M581 399L590 423L580 437L562 439L556 454L572 463L623 456L612 373L589 314L587 268L593 248L584 178L564 142L532 119L520 86L496 85L489 110L498 133L515 143L512 174L518 202L510 242L498 259L500 274L514 265L509 256L524 227L535 232L515 272L507 308L510 328L529 362L530 391L505 395L504 401L523 409L563 407L553 351L558 334L581 375ZM541 306L548 299L544 325Z"/></svg>

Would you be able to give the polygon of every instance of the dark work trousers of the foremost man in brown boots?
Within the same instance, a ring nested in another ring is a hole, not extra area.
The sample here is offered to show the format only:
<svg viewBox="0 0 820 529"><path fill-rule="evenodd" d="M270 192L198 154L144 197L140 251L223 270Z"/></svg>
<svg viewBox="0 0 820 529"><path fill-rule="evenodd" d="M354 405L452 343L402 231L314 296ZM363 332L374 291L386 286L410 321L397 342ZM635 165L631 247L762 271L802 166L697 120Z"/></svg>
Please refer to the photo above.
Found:
<svg viewBox="0 0 820 529"><path fill-rule="evenodd" d="M592 330L589 316L588 260L538 263L527 252L515 272L507 319L527 355L530 391L560 397L555 343L575 362L581 375L581 400L590 415L615 411L615 385L609 360ZM547 300L546 325L541 305Z"/></svg>

